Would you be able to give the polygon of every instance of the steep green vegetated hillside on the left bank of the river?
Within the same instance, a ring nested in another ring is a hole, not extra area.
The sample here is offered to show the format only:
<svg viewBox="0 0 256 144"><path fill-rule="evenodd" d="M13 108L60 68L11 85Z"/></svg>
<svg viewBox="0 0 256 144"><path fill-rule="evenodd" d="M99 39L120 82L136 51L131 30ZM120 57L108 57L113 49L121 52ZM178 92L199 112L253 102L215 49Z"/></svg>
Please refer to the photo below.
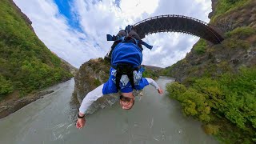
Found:
<svg viewBox="0 0 256 144"><path fill-rule="evenodd" d="M1 0L0 6L0 99L14 91L23 96L72 77L9 0Z"/></svg>

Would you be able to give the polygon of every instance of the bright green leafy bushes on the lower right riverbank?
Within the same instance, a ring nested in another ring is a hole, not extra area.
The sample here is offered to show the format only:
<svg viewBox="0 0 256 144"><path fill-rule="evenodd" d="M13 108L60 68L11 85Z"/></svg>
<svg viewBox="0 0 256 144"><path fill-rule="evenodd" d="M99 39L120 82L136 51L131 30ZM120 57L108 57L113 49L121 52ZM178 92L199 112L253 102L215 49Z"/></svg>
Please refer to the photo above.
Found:
<svg viewBox="0 0 256 144"><path fill-rule="evenodd" d="M256 142L256 67L219 78L196 78L186 87L167 86L171 98L182 102L183 113L205 123L208 134L226 143ZM231 133L230 133L231 132Z"/></svg>

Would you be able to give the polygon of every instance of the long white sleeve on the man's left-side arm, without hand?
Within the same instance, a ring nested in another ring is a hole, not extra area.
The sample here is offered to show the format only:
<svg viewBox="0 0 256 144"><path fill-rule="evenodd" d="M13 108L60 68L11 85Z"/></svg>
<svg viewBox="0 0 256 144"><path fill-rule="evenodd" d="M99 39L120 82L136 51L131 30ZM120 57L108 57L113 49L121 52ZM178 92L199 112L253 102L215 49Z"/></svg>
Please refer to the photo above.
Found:
<svg viewBox="0 0 256 144"><path fill-rule="evenodd" d="M90 91L90 93L86 94L86 97L83 98L82 104L79 108L79 112L82 114L86 113L86 110L90 107L90 105L96 101L98 98L101 98L103 96L102 89L103 85L98 86L96 89Z"/></svg>

